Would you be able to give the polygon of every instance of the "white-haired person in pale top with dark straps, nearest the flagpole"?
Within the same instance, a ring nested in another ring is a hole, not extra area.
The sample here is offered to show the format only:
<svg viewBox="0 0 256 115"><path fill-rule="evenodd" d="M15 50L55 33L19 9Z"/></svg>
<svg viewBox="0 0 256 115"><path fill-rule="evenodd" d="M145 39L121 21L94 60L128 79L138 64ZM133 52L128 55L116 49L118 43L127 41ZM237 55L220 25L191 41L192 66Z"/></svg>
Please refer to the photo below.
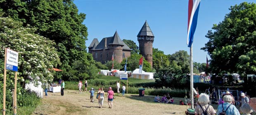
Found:
<svg viewBox="0 0 256 115"><path fill-rule="evenodd" d="M198 105L194 110L195 115L201 115L203 112L208 113L208 115L216 114L213 106L208 104L209 102L209 95L201 93L198 98Z"/></svg>

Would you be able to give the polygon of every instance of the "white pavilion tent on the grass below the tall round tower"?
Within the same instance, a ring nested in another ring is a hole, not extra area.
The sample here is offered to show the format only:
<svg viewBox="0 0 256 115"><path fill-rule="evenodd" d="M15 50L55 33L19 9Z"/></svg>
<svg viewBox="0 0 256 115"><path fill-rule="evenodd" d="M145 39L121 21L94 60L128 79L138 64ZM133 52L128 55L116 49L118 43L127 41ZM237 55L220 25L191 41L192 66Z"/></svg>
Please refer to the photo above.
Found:
<svg viewBox="0 0 256 115"><path fill-rule="evenodd" d="M152 72L145 72L139 73L139 69L135 69L132 73L132 78L139 78L139 79L154 79L154 73Z"/></svg>

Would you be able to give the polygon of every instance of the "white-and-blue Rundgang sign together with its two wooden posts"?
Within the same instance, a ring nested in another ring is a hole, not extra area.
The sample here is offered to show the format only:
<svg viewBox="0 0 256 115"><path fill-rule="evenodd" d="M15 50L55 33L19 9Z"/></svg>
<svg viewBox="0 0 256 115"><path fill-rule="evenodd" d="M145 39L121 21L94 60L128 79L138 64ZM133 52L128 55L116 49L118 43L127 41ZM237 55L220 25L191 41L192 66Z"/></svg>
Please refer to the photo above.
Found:
<svg viewBox="0 0 256 115"><path fill-rule="evenodd" d="M5 115L5 97L6 97L6 70L15 71L14 81L14 94L13 94L13 113L17 114L17 71L18 71L18 57L19 53L9 48L5 48L5 69L4 69L4 90L3 90L3 110L2 113Z"/></svg>

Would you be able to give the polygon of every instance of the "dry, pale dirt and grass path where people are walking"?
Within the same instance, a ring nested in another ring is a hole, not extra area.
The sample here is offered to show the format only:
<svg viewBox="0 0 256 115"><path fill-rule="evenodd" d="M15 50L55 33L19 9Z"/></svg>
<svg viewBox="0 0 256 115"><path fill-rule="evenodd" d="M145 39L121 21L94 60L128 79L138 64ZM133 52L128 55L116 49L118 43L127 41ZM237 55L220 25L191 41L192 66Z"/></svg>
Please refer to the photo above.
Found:
<svg viewBox="0 0 256 115"><path fill-rule="evenodd" d="M78 90L64 90L64 96L60 92L48 92L32 115L185 115L185 110L190 107L178 105L179 100L175 98L176 104L154 103L153 99L152 96L126 94L122 97L119 94L112 108L108 108L105 99L100 109L97 99L94 103L90 102L89 92L79 94Z"/></svg>

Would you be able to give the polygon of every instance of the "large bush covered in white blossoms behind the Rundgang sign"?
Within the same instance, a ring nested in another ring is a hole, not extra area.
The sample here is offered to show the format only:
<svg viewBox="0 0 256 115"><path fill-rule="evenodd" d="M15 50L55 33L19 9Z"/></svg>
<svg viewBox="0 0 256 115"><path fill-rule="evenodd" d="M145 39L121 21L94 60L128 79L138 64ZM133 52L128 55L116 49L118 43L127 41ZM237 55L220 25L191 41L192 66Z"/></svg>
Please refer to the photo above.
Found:
<svg viewBox="0 0 256 115"><path fill-rule="evenodd" d="M35 34L35 31L35 28L24 28L21 22L12 18L0 17L0 60L4 60L5 48L17 51L20 82L24 80L32 80L34 83L38 80L42 83L51 82L52 67L60 64L58 52L54 47L55 42Z"/></svg>

